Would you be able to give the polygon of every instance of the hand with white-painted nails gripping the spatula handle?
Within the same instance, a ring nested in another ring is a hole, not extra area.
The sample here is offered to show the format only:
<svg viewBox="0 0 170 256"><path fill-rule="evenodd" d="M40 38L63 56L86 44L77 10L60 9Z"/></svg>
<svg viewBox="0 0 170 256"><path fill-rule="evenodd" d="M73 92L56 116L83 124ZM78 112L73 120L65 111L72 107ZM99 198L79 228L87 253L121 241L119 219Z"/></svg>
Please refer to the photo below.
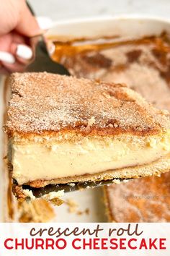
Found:
<svg viewBox="0 0 170 256"><path fill-rule="evenodd" d="M36 40L30 37L42 31L25 0L0 0L0 6L0 53L14 56L7 62L0 60L0 73L23 72L35 49Z"/></svg>

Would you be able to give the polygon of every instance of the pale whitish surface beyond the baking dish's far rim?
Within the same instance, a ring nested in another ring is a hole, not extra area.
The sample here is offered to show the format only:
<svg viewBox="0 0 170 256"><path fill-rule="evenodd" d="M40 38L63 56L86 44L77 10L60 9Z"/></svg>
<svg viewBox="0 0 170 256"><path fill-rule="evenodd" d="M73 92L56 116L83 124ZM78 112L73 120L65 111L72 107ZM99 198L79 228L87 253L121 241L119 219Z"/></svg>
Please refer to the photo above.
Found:
<svg viewBox="0 0 170 256"><path fill-rule="evenodd" d="M53 20L107 14L151 14L169 17L170 0L30 0L37 15Z"/></svg>

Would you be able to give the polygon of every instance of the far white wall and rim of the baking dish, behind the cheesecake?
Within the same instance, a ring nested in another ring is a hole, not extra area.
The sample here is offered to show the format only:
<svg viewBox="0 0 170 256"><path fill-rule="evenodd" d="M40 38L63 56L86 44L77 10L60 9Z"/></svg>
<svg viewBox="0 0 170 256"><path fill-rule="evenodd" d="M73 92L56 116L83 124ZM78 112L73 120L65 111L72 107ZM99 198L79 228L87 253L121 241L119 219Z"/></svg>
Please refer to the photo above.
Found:
<svg viewBox="0 0 170 256"><path fill-rule="evenodd" d="M140 15L117 17L92 17L89 19L54 22L45 34L58 40L98 38L102 36L142 37L158 35L163 30L170 32L170 19Z"/></svg>

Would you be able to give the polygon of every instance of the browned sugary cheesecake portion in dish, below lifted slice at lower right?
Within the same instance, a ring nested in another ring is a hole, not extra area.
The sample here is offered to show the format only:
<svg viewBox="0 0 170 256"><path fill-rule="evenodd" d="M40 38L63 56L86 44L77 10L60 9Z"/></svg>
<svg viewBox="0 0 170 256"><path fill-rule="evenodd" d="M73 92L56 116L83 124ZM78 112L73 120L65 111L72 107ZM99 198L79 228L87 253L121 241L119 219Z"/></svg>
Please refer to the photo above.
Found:
<svg viewBox="0 0 170 256"><path fill-rule="evenodd" d="M116 222L170 221L170 173L107 187L109 215Z"/></svg>

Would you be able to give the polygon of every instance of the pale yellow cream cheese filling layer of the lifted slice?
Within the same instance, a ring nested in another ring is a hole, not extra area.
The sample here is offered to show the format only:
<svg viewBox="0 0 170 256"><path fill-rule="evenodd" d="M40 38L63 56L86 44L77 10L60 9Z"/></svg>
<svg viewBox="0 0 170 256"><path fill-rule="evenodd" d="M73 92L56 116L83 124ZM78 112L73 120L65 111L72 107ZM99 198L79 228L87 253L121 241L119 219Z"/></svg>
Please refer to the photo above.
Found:
<svg viewBox="0 0 170 256"><path fill-rule="evenodd" d="M96 174L151 163L170 152L170 135L150 137L86 137L84 140L19 144L12 140L13 178L18 184L37 179Z"/></svg>

